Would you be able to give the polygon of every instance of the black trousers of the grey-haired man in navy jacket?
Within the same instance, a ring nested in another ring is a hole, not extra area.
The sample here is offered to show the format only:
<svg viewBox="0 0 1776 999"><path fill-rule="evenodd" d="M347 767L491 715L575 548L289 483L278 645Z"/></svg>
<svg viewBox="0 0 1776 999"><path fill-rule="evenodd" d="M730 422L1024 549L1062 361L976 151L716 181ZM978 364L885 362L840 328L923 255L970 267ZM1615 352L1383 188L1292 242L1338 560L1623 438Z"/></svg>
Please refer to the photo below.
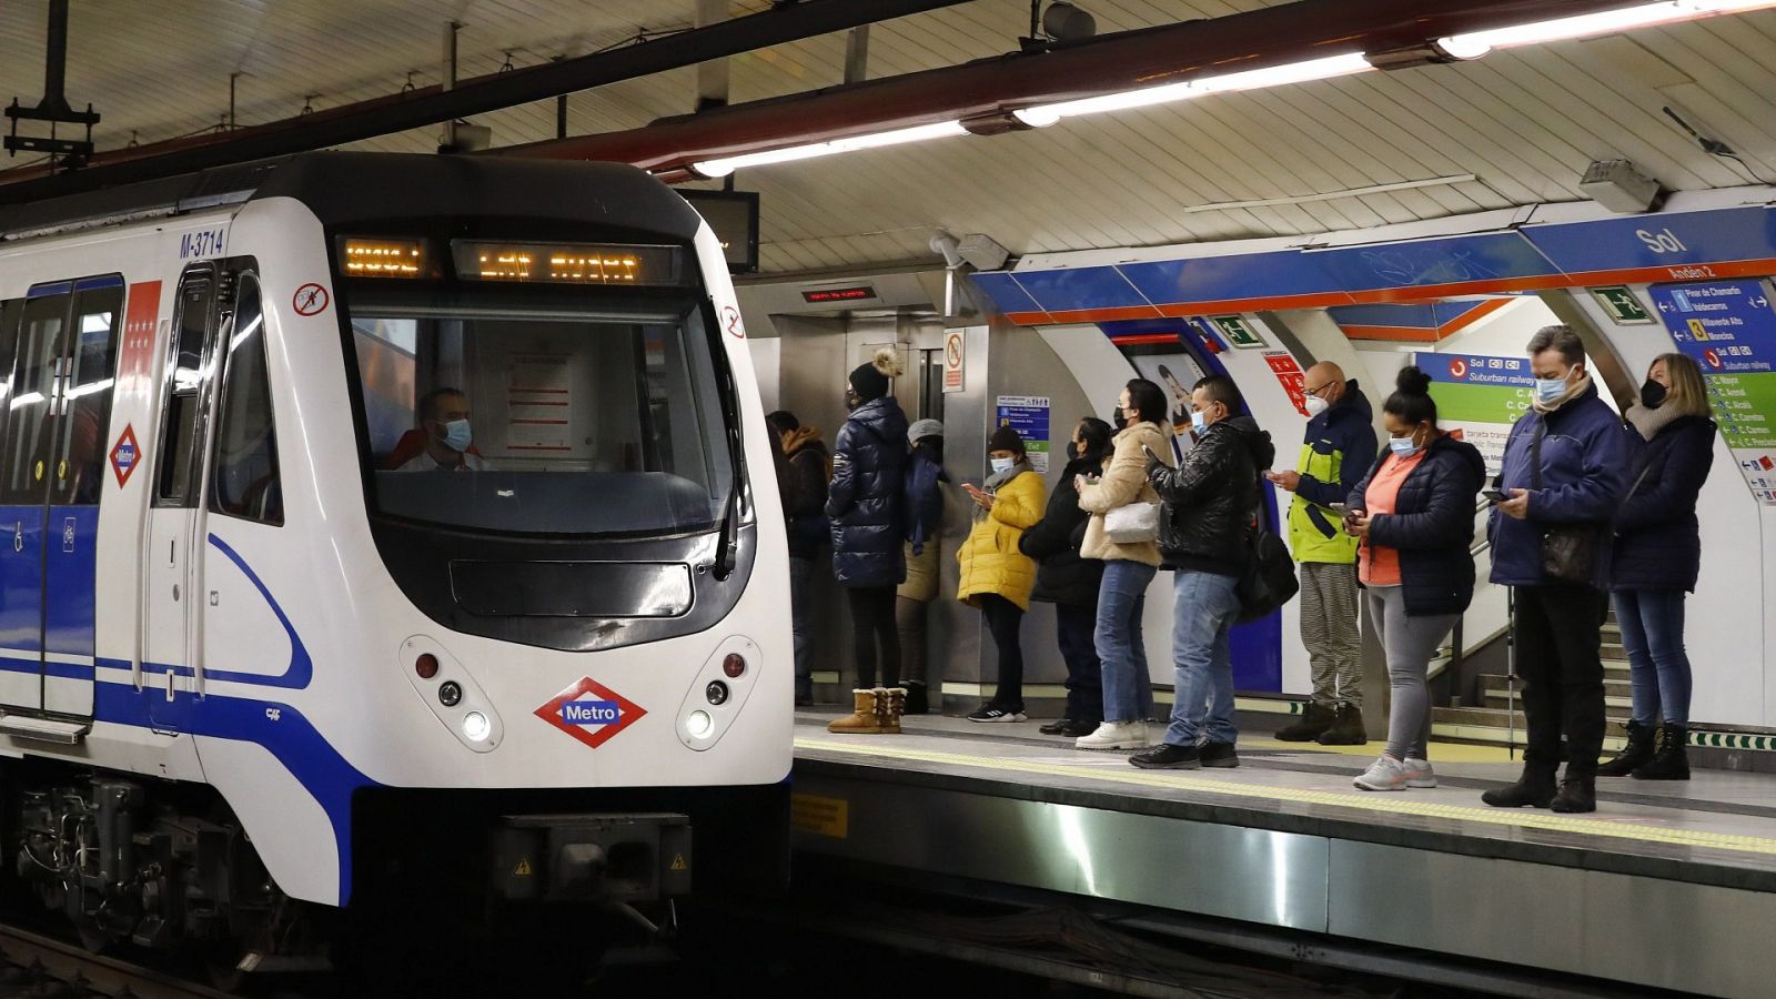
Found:
<svg viewBox="0 0 1776 999"><path fill-rule="evenodd" d="M1604 661L1609 597L1586 585L1517 588L1517 674L1524 681L1524 763L1554 770L1566 736L1566 777L1597 773L1604 748Z"/></svg>

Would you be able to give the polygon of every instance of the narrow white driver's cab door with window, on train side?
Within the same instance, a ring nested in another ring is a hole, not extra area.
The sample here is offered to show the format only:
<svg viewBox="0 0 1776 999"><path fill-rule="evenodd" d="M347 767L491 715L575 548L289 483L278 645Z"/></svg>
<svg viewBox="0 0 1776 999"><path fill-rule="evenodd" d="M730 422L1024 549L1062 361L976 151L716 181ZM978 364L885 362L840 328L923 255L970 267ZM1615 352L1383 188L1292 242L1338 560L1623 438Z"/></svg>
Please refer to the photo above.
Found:
<svg viewBox="0 0 1776 999"><path fill-rule="evenodd" d="M179 279L172 341L162 386L158 455L142 563L142 672L147 713L162 729L183 729L195 697L194 629L197 565L194 553L210 398L208 363L222 327L222 276L195 265Z"/></svg>

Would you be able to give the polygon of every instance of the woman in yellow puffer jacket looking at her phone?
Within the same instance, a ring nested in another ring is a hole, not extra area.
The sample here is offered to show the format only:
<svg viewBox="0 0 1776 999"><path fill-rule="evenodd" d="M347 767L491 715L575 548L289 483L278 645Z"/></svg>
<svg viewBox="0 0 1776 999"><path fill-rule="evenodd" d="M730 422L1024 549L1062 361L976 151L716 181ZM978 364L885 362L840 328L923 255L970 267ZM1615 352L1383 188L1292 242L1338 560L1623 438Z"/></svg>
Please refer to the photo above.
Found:
<svg viewBox="0 0 1776 999"><path fill-rule="evenodd" d="M970 722L1023 722L1023 643L1018 629L1030 610L1035 588L1035 560L1018 551L1023 530L1043 519L1046 489L1023 452L1023 437L1000 427L987 439L993 476L986 489L964 485L980 507L955 560L963 563L963 583L955 599L980 608L998 645L998 688Z"/></svg>

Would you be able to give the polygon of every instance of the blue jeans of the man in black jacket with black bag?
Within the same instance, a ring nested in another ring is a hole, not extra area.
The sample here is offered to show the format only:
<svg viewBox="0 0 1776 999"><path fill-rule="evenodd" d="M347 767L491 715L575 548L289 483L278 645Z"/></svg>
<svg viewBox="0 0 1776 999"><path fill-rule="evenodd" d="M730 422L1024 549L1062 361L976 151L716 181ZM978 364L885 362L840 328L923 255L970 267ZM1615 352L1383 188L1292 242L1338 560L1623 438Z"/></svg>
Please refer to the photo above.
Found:
<svg viewBox="0 0 1776 999"><path fill-rule="evenodd" d="M1193 747L1197 736L1211 743L1240 738L1233 723L1233 649L1227 636L1240 617L1240 579L1213 572L1181 571L1172 583L1172 723L1165 741Z"/></svg>

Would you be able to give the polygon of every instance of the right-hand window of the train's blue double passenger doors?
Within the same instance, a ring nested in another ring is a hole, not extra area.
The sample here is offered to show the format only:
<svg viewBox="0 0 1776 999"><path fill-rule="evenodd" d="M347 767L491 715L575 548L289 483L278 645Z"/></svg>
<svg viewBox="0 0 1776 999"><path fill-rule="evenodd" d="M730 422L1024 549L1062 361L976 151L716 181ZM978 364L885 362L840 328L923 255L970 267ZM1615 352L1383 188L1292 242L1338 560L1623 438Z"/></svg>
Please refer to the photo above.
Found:
<svg viewBox="0 0 1776 999"><path fill-rule="evenodd" d="M112 379L117 373L117 322L123 283L75 290L67 372L62 393L66 420L55 448L52 503L98 503L105 487L105 436L110 428Z"/></svg>

